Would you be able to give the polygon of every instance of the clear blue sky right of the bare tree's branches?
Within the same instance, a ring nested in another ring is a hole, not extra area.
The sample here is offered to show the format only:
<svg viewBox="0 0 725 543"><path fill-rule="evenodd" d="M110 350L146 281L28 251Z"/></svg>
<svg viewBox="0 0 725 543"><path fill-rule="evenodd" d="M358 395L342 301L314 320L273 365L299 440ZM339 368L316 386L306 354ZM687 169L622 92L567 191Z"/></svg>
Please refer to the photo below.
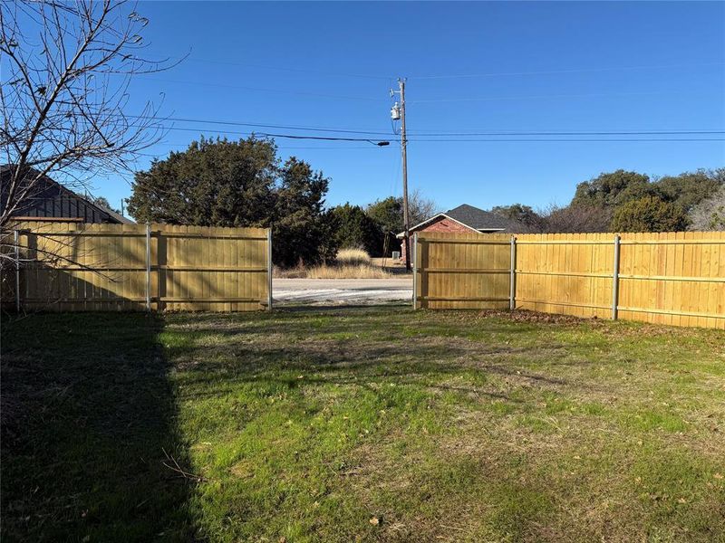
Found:
<svg viewBox="0 0 725 543"><path fill-rule="evenodd" d="M134 81L130 113L163 93L161 111L175 118L371 131L394 140L389 89L407 77L409 184L443 209L566 204L576 183L617 168L662 176L725 166L723 141L416 137L725 130L725 3L142 2L137 11L150 19L150 54L189 58ZM174 128L151 154L186 148L200 134L251 130L180 121ZM398 145L277 143L282 157L304 158L331 177L329 205L401 194ZM94 194L119 205L130 180L100 177Z"/></svg>

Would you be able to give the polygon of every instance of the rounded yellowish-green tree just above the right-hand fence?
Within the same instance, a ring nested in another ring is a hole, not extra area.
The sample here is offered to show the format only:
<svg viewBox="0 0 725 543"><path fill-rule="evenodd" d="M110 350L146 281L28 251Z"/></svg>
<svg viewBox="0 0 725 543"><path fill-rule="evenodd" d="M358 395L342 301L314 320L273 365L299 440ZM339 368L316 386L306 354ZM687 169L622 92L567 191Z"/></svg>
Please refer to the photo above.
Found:
<svg viewBox="0 0 725 543"><path fill-rule="evenodd" d="M679 232L688 226L684 210L656 196L644 196L617 207L612 228L618 232Z"/></svg>

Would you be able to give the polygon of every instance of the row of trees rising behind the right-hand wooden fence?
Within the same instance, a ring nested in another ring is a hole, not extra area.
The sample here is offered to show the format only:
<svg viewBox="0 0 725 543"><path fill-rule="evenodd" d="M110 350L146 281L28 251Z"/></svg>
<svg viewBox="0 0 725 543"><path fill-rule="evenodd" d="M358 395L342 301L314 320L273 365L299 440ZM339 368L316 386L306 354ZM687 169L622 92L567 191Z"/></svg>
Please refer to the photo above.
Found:
<svg viewBox="0 0 725 543"><path fill-rule="evenodd" d="M617 170L577 185L569 205L491 211L517 221L522 232L725 230L725 168L655 179Z"/></svg>

